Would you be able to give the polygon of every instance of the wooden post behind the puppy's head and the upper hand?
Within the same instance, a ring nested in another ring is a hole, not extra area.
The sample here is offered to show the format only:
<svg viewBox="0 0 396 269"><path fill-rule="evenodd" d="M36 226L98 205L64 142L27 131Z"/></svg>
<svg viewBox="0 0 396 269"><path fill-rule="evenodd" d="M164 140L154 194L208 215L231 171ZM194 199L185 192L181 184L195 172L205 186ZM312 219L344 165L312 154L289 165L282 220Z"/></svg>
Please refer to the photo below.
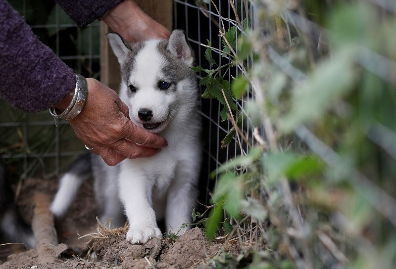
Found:
<svg viewBox="0 0 396 269"><path fill-rule="evenodd" d="M172 0L135 0L148 16L172 30ZM112 90L118 91L120 85L120 70L118 60L113 54L107 38L104 34L111 29L104 23L100 23L100 81Z"/></svg>

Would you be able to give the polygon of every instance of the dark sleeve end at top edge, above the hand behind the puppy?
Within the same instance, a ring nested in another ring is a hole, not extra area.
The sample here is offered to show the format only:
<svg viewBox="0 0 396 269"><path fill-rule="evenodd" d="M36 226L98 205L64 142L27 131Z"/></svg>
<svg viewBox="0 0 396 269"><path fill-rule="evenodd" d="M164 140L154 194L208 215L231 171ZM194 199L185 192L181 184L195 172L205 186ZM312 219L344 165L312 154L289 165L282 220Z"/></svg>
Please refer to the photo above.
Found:
<svg viewBox="0 0 396 269"><path fill-rule="evenodd" d="M99 19L123 0L55 0L78 26L84 27Z"/></svg>

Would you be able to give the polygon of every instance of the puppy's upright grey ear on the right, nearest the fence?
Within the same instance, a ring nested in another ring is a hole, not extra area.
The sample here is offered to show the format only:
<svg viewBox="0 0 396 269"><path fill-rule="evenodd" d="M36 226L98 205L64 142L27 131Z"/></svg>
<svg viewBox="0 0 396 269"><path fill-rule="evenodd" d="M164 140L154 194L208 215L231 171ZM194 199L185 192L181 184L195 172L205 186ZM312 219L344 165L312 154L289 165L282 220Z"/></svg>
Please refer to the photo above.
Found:
<svg viewBox="0 0 396 269"><path fill-rule="evenodd" d="M187 66L192 67L194 65L194 52L187 43L186 35L182 30L173 30L170 34L168 50L171 54L185 62Z"/></svg>

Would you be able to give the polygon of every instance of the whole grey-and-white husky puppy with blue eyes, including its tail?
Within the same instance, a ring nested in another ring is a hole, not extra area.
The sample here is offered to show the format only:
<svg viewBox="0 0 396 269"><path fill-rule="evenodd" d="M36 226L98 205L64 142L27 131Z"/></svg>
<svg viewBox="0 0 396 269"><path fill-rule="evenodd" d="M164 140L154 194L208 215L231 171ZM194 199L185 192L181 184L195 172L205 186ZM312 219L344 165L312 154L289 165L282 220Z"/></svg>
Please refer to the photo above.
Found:
<svg viewBox="0 0 396 269"><path fill-rule="evenodd" d="M137 44L116 33L106 36L120 63L119 95L129 107L131 120L168 141L154 156L127 159L115 167L92 155L95 191L102 203L100 219L110 217L122 223L121 201L129 222L127 241L145 243L162 237L157 219L165 220L168 232L191 223L201 158L197 78L190 68L194 54L181 30L174 30L168 41ZM73 171L65 176L71 183L61 179L51 206L57 216L65 212L70 190L81 181ZM62 184L69 185L69 191L63 192Z"/></svg>

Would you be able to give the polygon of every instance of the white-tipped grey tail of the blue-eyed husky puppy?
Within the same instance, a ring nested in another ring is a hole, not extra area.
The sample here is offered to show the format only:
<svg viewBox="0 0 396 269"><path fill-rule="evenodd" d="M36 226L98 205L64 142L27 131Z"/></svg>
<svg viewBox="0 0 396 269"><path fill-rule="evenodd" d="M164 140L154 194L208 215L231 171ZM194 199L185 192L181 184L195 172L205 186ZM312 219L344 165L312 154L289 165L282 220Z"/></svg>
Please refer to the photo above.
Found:
<svg viewBox="0 0 396 269"><path fill-rule="evenodd" d="M89 152L80 156L60 179L58 191L49 208L55 217L62 217L66 213L81 184L92 177L91 155Z"/></svg>

